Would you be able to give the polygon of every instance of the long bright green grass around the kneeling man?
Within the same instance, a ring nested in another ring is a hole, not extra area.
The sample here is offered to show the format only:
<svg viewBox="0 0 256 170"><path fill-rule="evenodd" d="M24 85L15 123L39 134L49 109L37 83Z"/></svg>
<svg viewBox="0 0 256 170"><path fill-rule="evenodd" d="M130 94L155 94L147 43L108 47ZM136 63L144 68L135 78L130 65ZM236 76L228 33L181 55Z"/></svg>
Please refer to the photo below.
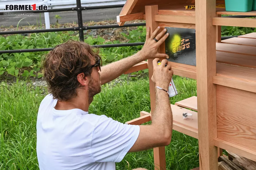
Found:
<svg viewBox="0 0 256 170"><path fill-rule="evenodd" d="M179 95L171 103L196 95L196 81L173 77ZM89 112L105 114L122 123L150 111L149 79L124 80L122 85L106 84L94 97ZM25 82L0 85L0 170L39 169L36 155L36 119L46 88ZM128 163L129 162L129 166ZM117 163L117 170L137 167L154 169L153 149L129 153ZM172 142L166 147L167 169L189 170L199 166L198 140L173 131Z"/></svg>

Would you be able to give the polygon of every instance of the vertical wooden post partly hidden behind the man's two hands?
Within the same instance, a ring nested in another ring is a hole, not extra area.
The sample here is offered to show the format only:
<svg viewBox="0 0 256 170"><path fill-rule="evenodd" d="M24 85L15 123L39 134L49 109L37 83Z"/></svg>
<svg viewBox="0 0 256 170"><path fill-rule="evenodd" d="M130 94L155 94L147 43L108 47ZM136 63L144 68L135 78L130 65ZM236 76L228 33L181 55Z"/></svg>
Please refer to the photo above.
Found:
<svg viewBox="0 0 256 170"><path fill-rule="evenodd" d="M158 5L145 6L146 15L146 27L150 27L150 35L159 26L158 22L155 21L155 15L158 14ZM151 80L153 75L153 59L148 59L148 74L149 74L149 92L150 92L150 107L151 113L154 114L155 110L155 84ZM154 164L155 170L165 170L165 147L154 148Z"/></svg>

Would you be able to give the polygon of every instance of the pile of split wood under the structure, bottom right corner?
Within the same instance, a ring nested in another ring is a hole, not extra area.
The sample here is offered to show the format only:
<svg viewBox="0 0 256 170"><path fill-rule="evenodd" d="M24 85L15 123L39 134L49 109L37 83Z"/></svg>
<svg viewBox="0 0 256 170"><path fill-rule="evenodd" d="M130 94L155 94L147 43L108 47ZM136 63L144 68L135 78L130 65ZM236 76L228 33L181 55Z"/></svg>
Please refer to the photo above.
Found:
<svg viewBox="0 0 256 170"><path fill-rule="evenodd" d="M256 162L228 152L228 157L220 156L218 159L219 170L255 170Z"/></svg>

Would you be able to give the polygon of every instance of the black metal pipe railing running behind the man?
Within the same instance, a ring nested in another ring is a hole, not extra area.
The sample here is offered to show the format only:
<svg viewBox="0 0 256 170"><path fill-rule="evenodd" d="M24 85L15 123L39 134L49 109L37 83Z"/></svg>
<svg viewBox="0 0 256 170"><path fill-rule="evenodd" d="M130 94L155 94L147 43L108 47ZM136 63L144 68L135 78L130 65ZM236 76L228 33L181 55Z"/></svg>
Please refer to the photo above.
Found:
<svg viewBox="0 0 256 170"><path fill-rule="evenodd" d="M39 10L29 10L29 11L22 11L22 13L45 13L45 12L62 12L62 11L77 11L77 19L78 19L78 27L73 28L54 28L54 29L36 29L36 30L25 30L25 31L3 31L0 32L0 35L7 35L7 34L24 34L24 33L42 33L42 32L59 32L59 31L79 31L79 40L84 41L84 30L89 29L104 29L104 28L119 28L119 27L135 27L135 26L145 26L146 23L133 23L133 24L124 24L123 26L119 25L100 25L100 26L83 26L83 17L82 11L83 10L92 10L92 9L107 9L107 8L121 8L124 5L104 5L104 6L95 6L95 7L82 7L81 0L76 0L77 6L73 8L61 8L61 9L48 9L44 11ZM19 12L16 12L19 13ZM4 15L4 12L0 12L0 15ZM223 17L236 17L236 18L246 18L246 17L253 17L253 16L246 16L246 15L232 15L232 16L223 16ZM230 37L222 37L222 40L237 37L237 36L230 36ZM144 42L141 43L123 43L123 44L104 44L104 45L93 45L94 47L124 47L124 46L138 46L144 45ZM19 53L19 52L39 52L39 51L50 51L53 48L35 48L35 49L22 49L22 50L2 50L0 54L3 53Z"/></svg>

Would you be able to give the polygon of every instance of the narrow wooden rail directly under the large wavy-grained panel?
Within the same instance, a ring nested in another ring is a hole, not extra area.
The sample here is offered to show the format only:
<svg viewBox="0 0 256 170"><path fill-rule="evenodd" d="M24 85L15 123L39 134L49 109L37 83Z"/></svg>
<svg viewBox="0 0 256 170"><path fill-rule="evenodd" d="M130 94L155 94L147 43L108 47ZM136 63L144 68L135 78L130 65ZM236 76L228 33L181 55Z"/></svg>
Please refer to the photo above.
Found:
<svg viewBox="0 0 256 170"><path fill-rule="evenodd" d="M251 159L253 161L256 161L256 152L244 147L241 147L239 145L236 145L231 142L224 141L222 139L216 138L214 139L214 145L218 146L220 148L223 148L225 150L234 152L238 155L241 155L243 157L246 157L248 159Z"/></svg>

